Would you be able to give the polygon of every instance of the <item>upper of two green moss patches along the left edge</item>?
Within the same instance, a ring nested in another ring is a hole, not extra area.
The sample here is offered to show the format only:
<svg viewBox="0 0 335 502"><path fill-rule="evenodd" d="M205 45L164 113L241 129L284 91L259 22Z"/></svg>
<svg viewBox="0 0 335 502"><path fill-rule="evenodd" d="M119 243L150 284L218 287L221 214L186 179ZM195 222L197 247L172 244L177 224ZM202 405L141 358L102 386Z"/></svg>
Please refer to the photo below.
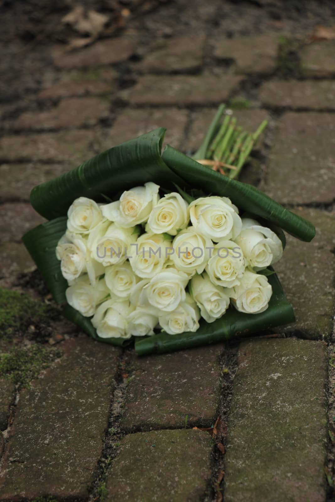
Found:
<svg viewBox="0 0 335 502"><path fill-rule="evenodd" d="M57 311L28 295L0 288L0 337L27 330L31 324L50 325Z"/></svg>

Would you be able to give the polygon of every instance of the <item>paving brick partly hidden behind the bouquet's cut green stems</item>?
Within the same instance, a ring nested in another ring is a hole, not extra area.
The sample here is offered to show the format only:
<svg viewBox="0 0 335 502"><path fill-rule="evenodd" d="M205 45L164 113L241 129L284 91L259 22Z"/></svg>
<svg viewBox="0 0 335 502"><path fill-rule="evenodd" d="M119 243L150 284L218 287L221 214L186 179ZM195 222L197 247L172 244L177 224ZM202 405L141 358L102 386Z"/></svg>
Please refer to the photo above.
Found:
<svg viewBox="0 0 335 502"><path fill-rule="evenodd" d="M255 132L263 120L269 119L269 113L260 109L232 110L233 116L237 119L238 126L246 131ZM187 134L187 139L183 145L186 152L195 152L201 145L209 124L214 118L216 108L205 108L194 111L191 115L191 126ZM263 144L262 136L256 145L256 149Z"/></svg>

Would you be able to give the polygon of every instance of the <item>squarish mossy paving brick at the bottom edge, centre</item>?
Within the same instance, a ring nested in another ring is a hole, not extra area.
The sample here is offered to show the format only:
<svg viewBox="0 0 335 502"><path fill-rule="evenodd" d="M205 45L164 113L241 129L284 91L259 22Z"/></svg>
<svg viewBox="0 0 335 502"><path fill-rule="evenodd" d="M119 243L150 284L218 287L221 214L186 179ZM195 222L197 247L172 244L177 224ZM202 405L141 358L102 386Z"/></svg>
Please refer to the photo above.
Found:
<svg viewBox="0 0 335 502"><path fill-rule="evenodd" d="M108 472L106 502L197 502L210 480L210 436L196 430L130 434ZM116 482L117 480L117 482Z"/></svg>

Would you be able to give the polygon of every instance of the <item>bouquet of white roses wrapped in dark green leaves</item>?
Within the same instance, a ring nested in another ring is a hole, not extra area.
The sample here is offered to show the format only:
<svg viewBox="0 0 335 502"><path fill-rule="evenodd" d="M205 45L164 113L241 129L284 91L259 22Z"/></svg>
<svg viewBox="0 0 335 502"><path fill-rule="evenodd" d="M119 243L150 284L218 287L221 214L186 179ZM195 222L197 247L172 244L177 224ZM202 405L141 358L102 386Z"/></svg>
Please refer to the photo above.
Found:
<svg viewBox="0 0 335 502"><path fill-rule="evenodd" d="M64 315L101 341L134 336L138 354L293 321L271 266L283 254L282 228L310 240L313 226L234 175L169 146L161 155L164 132L33 189L49 221L23 240L55 300L66 300ZM217 143L209 133L206 148Z"/></svg>

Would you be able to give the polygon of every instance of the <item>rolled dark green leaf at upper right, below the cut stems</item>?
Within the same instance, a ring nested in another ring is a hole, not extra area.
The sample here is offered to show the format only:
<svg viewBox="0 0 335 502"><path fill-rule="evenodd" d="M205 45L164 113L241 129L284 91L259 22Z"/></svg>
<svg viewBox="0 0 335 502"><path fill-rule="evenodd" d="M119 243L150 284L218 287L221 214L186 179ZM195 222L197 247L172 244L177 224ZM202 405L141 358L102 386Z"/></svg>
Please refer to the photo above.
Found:
<svg viewBox="0 0 335 502"><path fill-rule="evenodd" d="M315 227L310 221L285 209L258 188L233 180L207 169L198 162L167 145L162 158L174 174L192 183L208 194L229 197L240 211L248 211L265 218L294 237L309 242L315 236Z"/></svg>

